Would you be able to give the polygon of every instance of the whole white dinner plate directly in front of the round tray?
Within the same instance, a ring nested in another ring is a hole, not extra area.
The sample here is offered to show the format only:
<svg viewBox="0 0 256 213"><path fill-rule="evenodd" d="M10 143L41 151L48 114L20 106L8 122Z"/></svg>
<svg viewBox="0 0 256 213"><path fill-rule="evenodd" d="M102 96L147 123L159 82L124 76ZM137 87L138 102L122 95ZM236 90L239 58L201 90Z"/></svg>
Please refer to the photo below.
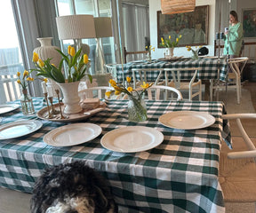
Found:
<svg viewBox="0 0 256 213"><path fill-rule="evenodd" d="M90 122L61 126L44 135L44 143L51 146L75 146L97 138L101 127Z"/></svg>

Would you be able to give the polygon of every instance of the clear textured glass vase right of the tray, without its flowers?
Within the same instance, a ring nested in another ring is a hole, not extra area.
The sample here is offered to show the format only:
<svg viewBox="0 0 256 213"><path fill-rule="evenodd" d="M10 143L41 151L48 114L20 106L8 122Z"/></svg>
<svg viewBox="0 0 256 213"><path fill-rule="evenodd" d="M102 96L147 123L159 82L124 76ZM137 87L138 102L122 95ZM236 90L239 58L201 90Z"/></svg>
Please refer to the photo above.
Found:
<svg viewBox="0 0 256 213"><path fill-rule="evenodd" d="M131 122L144 122L148 120L147 106L144 99L136 99L134 96L129 96L128 101L128 119Z"/></svg>

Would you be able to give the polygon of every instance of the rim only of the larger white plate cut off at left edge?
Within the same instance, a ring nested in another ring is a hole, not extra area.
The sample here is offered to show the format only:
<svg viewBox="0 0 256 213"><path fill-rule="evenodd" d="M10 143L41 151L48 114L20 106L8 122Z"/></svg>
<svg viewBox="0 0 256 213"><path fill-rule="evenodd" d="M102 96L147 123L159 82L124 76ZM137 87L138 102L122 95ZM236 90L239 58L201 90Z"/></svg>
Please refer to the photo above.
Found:
<svg viewBox="0 0 256 213"><path fill-rule="evenodd" d="M30 130L29 132L26 132L20 136L10 136L10 137L1 137L0 135L0 140L4 140L4 139L12 139L12 138L20 138L22 136L25 136L25 135L28 135L36 130L39 130L42 126L43 126L43 123L40 122L40 121L36 121L36 120L23 120L23 121L16 121L16 122L9 122L9 123L5 123L3 125L0 126L0 132L1 130L6 130L6 128L10 128L10 127L13 127L13 126L17 126L17 125L25 125L25 124L28 124L28 123L35 123L36 124L36 127L33 129L33 130Z"/></svg>

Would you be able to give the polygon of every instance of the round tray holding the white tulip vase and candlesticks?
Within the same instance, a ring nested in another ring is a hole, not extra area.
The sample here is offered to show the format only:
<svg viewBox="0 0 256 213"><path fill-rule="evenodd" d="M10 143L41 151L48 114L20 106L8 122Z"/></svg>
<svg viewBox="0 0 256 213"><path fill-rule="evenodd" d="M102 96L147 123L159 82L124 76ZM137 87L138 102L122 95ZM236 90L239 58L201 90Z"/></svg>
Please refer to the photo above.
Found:
<svg viewBox="0 0 256 213"><path fill-rule="evenodd" d="M62 114L65 118L61 119L60 114L53 114L54 115L53 118L48 118L47 106L40 109L36 115L40 119L51 121L51 122L77 122L77 121L85 120L86 118L91 117L93 114L97 114L97 113L103 111L106 107L106 104L103 101L100 101L100 106L93 108L91 110L83 109L80 113L77 113L77 114L64 114L63 113L64 104L61 103L60 106L61 106ZM60 106L59 106L59 104L53 105L54 109L59 110L59 111L60 111ZM52 109L52 106L50 106L50 109Z"/></svg>

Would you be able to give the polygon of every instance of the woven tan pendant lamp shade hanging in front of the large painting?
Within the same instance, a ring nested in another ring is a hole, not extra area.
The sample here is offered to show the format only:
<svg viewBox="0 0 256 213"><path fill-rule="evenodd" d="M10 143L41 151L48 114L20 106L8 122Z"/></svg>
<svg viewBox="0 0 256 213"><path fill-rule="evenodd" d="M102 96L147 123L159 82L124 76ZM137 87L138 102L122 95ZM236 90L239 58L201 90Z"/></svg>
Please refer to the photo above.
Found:
<svg viewBox="0 0 256 213"><path fill-rule="evenodd" d="M162 14L195 11L196 0L161 0Z"/></svg>

